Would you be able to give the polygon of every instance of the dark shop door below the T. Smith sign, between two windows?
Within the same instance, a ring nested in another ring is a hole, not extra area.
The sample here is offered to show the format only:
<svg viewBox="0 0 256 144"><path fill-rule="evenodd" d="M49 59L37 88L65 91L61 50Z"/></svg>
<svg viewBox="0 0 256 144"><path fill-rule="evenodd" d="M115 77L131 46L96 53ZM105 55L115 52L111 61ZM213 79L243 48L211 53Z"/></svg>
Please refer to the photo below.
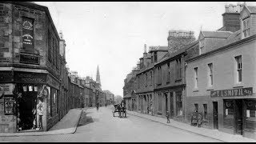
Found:
<svg viewBox="0 0 256 144"><path fill-rule="evenodd" d="M234 107L236 113L234 117L234 123L235 123L235 134L242 135L242 99L235 100L235 107Z"/></svg>

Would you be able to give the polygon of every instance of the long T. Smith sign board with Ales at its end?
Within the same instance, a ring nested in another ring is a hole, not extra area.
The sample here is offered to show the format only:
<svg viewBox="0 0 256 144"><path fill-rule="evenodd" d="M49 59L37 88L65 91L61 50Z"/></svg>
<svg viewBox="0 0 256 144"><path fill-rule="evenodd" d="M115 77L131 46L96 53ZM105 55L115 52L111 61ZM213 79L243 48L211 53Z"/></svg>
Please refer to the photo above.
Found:
<svg viewBox="0 0 256 144"><path fill-rule="evenodd" d="M234 96L246 96L253 94L252 87L231 89L231 90L212 90L210 91L210 97L234 97Z"/></svg>

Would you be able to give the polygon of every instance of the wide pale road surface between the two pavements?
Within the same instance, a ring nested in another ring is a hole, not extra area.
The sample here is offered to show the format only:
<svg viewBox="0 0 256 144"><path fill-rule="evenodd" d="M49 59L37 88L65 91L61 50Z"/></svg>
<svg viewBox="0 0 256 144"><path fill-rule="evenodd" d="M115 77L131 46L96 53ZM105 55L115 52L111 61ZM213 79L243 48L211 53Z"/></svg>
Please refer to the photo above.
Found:
<svg viewBox="0 0 256 144"><path fill-rule="evenodd" d="M110 107L84 110L74 134L4 137L0 142L222 142L127 115L113 117Z"/></svg>

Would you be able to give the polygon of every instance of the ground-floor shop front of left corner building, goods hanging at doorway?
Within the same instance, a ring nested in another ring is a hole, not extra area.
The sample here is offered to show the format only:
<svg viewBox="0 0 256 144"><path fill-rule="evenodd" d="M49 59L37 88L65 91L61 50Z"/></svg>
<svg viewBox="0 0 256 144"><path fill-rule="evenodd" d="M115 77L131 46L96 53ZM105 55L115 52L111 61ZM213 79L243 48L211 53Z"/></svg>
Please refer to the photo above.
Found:
<svg viewBox="0 0 256 144"><path fill-rule="evenodd" d="M51 120L46 117L52 111L52 100L58 94L58 83L53 86L56 82L50 79L52 78L47 73L0 72L0 105L3 106L3 113L0 113L0 126L3 127L0 133L49 129L47 123Z"/></svg>

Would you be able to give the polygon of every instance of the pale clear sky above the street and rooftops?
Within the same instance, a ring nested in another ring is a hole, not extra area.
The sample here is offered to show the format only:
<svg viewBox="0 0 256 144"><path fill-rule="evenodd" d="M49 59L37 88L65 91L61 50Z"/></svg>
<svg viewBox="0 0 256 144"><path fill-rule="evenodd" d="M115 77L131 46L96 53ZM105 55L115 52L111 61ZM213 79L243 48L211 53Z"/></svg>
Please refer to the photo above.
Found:
<svg viewBox="0 0 256 144"><path fill-rule="evenodd" d="M124 79L142 57L144 44L167 46L169 30L222 27L225 4L237 2L35 2L47 6L66 41L66 62L80 77L123 96ZM255 6L255 2L246 2Z"/></svg>

